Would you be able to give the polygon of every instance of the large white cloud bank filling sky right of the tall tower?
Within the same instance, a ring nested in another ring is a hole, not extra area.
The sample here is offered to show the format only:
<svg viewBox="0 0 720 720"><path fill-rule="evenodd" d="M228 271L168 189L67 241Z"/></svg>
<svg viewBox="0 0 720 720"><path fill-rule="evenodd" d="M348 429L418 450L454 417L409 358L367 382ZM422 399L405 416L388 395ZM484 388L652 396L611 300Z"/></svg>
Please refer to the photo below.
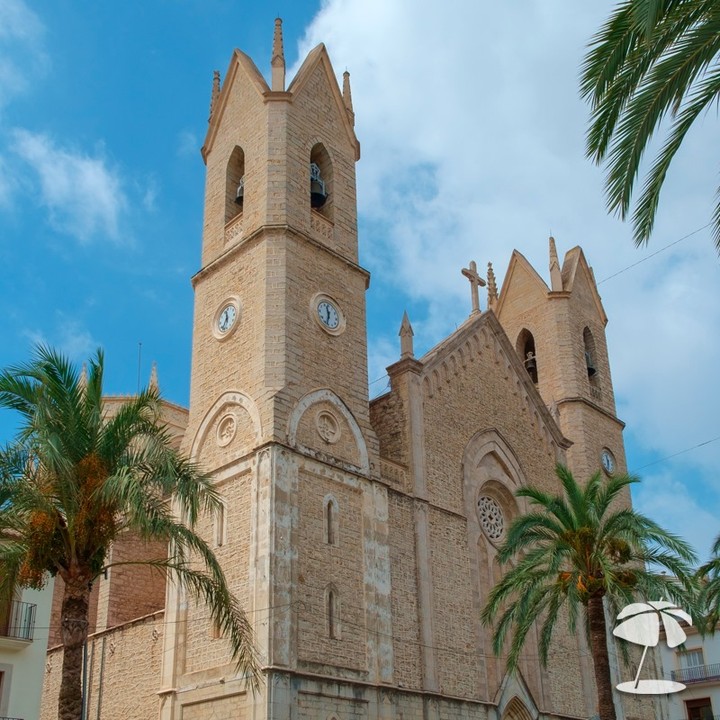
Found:
<svg viewBox="0 0 720 720"><path fill-rule="evenodd" d="M561 253L581 245L601 280L710 220L715 117L677 156L647 250L606 213L602 171L584 156L588 108L578 76L584 47L612 8L458 0L449 11L430 0L327 0L309 26L300 58L325 42L335 68L351 72L363 152L361 259L372 287L397 294L394 306L382 303L385 316L388 308L396 315L386 326L399 327L412 301L416 351L467 317L460 269L471 259L479 267L492 260L500 281L516 247L547 278L552 232ZM708 229L600 285L619 415L645 456L720 434L719 269ZM371 313L375 302L371 290ZM398 358L394 332L371 341L371 368L387 362L388 348ZM678 482L697 503L688 475L718 485L720 442L683 461ZM714 516L707 533L716 534L720 510L706 512Z"/></svg>

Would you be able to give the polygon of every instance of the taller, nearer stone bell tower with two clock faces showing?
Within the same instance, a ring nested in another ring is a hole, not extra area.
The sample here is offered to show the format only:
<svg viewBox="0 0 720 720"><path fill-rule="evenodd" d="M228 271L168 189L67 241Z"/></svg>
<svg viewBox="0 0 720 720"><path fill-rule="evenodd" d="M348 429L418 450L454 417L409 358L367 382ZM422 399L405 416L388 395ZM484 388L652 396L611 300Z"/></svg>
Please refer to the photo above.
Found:
<svg viewBox="0 0 720 720"><path fill-rule="evenodd" d="M185 435L223 499L201 531L248 613L265 678L247 692L207 612L171 589L165 720L211 708L280 718L273 708L289 712L300 676L392 674L349 75L340 89L319 45L286 87L276 20L270 76L235 50L213 80Z"/></svg>

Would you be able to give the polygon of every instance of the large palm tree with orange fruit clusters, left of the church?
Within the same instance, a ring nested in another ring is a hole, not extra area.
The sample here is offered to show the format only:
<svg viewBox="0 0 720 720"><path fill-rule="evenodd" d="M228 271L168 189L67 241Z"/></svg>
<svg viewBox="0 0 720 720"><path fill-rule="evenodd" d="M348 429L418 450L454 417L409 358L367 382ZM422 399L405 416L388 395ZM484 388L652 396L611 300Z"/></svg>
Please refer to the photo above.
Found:
<svg viewBox="0 0 720 720"><path fill-rule="evenodd" d="M250 625L193 529L219 507L210 479L172 448L156 390L128 398L108 417L102 389L102 351L87 375L46 347L0 373L0 407L21 416L17 437L0 449L0 595L9 598L18 585L40 588L48 573L64 581L59 718L80 720L90 590L113 540L127 531L170 543L169 557L147 564L207 603L238 671L255 687Z"/></svg>

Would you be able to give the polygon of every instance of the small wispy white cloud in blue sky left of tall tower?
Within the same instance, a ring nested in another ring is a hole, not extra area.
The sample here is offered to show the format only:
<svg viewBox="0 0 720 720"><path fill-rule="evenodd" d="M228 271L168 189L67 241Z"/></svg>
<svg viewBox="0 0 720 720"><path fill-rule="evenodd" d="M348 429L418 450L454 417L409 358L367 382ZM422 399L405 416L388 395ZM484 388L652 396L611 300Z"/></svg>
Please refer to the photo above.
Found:
<svg viewBox="0 0 720 720"><path fill-rule="evenodd" d="M59 147L47 135L17 129L14 151L37 173L50 223L81 243L121 241L127 198L116 170L102 155Z"/></svg>

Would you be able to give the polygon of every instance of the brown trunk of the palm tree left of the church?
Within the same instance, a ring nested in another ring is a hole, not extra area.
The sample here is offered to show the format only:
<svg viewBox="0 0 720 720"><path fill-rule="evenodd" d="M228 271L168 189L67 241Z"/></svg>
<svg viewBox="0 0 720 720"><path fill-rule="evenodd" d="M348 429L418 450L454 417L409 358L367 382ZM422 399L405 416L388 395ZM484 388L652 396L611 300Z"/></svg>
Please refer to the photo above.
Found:
<svg viewBox="0 0 720 720"><path fill-rule="evenodd" d="M82 720L82 666L89 604L87 581L65 584L60 621L64 654L58 720Z"/></svg>

